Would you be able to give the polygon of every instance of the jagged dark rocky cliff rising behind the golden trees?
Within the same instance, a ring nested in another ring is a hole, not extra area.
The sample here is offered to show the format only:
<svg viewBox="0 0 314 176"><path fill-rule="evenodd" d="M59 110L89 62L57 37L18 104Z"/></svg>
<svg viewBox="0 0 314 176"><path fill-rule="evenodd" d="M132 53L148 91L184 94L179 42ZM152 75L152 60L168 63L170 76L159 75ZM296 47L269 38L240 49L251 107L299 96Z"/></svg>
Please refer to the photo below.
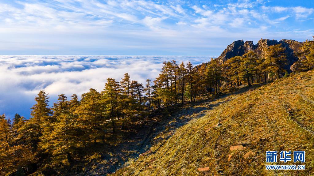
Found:
<svg viewBox="0 0 314 176"><path fill-rule="evenodd" d="M260 57L264 57L265 49L274 44L281 44L286 49L285 53L287 54L288 65L285 69L290 70L290 66L298 60L298 57L296 57L295 54L300 50L300 47L303 44L302 42L287 39L282 39L280 41L260 39L257 44L254 45L252 41L244 42L243 40L237 40L228 45L217 59L219 63L222 64L231 57L242 56L249 50L255 51Z"/></svg>

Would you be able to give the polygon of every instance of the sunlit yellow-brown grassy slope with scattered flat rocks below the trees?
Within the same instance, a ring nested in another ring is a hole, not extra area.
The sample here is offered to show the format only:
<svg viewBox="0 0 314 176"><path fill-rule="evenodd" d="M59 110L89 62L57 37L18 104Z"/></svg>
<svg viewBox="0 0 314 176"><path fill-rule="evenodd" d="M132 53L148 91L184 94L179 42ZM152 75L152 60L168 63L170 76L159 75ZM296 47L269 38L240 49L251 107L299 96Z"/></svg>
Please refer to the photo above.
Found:
<svg viewBox="0 0 314 176"><path fill-rule="evenodd" d="M314 175L313 71L199 106L206 107L201 115L196 114L169 139L156 140L152 153L140 156L116 175ZM219 122L221 126L213 127ZM163 139L166 133L155 139ZM230 151L234 145L246 148ZM267 171L268 150L305 150L306 170ZM253 154L245 159L249 151ZM199 167L209 170L201 172Z"/></svg>

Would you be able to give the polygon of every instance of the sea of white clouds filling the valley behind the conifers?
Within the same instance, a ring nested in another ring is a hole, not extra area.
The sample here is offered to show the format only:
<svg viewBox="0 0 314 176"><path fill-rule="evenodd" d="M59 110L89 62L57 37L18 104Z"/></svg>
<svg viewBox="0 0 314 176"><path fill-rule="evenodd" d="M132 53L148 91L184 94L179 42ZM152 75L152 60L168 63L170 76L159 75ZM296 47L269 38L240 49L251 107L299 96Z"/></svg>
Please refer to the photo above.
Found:
<svg viewBox="0 0 314 176"><path fill-rule="evenodd" d="M0 56L0 114L30 117L40 90L50 96L81 95L89 88L103 90L108 77L121 80L124 73L145 84L158 76L163 61L208 62L209 56Z"/></svg>

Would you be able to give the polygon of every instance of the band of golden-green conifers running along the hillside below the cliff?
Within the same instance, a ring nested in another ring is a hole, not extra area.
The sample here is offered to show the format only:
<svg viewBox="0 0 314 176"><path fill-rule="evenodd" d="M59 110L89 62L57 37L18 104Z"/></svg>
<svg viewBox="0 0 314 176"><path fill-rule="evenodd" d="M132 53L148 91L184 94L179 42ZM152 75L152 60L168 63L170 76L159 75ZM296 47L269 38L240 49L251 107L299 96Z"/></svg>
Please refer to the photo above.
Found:
<svg viewBox="0 0 314 176"><path fill-rule="evenodd" d="M313 65L313 41L303 45L308 67ZM35 97L31 118L16 114L13 122L0 116L0 175L27 175L71 167L82 151L106 147L108 135L125 131L132 120L152 111L196 101L199 95L219 95L223 88L267 82L287 76L284 48L269 46L264 58L254 51L219 64L212 59L194 67L190 62L165 61L154 81L141 84L128 73L108 78L104 89L90 89L79 98L61 94L52 107L44 90Z"/></svg>

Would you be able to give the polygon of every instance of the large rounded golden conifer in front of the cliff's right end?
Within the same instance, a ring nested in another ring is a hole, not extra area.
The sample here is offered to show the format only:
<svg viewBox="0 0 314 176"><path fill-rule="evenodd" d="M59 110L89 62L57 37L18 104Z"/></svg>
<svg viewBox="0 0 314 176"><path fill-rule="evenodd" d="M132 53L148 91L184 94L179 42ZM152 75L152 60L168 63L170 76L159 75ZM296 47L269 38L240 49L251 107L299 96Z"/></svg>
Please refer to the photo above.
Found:
<svg viewBox="0 0 314 176"><path fill-rule="evenodd" d="M281 44L271 45L266 49L265 62L267 70L277 75L280 79L280 74L284 73L284 66L287 65L287 55L284 53L285 48Z"/></svg>

